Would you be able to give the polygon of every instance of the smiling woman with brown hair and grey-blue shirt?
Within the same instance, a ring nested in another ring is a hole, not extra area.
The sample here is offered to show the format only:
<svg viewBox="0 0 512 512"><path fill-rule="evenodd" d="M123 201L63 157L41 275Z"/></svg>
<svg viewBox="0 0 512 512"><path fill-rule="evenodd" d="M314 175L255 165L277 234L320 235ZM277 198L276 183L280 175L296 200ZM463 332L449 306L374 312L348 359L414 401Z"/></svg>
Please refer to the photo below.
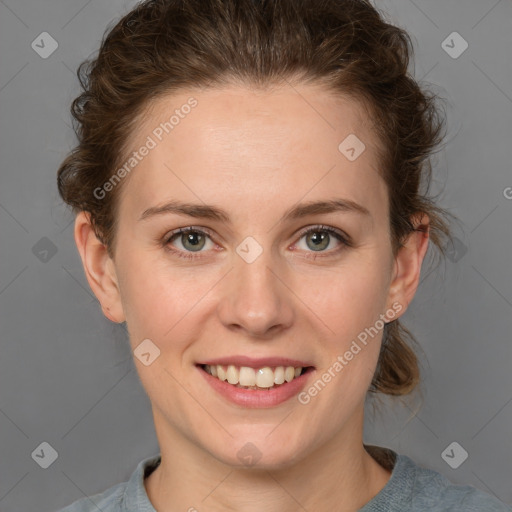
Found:
<svg viewBox="0 0 512 512"><path fill-rule="evenodd" d="M82 67L59 191L160 454L66 512L509 510L362 441L419 381L399 317L449 237L410 51L362 0L158 0Z"/></svg>

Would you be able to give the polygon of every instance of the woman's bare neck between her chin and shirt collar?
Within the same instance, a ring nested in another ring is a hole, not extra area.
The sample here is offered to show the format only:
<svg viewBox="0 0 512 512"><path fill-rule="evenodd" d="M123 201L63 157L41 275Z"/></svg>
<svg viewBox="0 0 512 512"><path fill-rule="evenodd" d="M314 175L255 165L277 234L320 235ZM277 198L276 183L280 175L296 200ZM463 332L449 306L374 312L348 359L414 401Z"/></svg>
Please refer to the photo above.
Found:
<svg viewBox="0 0 512 512"><path fill-rule="evenodd" d="M354 432L340 432L277 469L233 468L187 438L160 432L162 460L144 484L158 512L357 512L386 485L391 471L365 450L362 428L354 431L361 433L357 440Z"/></svg>

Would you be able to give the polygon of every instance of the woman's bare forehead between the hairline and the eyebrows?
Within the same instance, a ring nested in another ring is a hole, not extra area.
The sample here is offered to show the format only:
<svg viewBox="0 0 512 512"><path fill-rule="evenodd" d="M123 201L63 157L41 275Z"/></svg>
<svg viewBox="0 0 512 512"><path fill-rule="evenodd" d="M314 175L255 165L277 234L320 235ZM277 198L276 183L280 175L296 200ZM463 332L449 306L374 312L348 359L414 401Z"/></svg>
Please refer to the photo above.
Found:
<svg viewBox="0 0 512 512"><path fill-rule="evenodd" d="M148 105L126 145L128 156L151 149L130 172L122 202L140 211L179 196L261 208L339 191L368 209L371 200L385 208L376 140L365 116L355 100L317 85L162 96Z"/></svg>

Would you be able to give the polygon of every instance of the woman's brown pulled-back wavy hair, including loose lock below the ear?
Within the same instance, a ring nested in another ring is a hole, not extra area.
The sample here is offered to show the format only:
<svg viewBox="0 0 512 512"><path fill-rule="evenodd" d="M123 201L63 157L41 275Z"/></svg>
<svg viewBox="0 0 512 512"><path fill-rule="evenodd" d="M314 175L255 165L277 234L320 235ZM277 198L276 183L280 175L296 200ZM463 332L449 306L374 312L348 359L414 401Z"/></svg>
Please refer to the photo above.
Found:
<svg viewBox="0 0 512 512"><path fill-rule="evenodd" d="M151 99L196 87L270 87L287 79L325 85L358 99L379 140L390 197L394 254L430 218L430 240L444 255L449 215L427 196L430 156L442 141L437 97L408 72L408 34L365 0L147 0L107 30L96 58L83 62L83 88L71 107L78 145L58 170L73 211L90 214L113 257L121 185L94 190L123 161L124 144ZM424 187L422 192L420 189ZM370 392L406 395L419 382L412 334L391 321Z"/></svg>

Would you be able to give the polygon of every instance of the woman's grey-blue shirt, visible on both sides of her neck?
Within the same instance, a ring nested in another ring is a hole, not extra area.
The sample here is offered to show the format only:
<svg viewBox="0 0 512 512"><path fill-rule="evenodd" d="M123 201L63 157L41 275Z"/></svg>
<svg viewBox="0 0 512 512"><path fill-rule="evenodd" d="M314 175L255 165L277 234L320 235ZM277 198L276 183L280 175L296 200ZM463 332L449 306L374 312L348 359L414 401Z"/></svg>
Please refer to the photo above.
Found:
<svg viewBox="0 0 512 512"><path fill-rule="evenodd" d="M388 448L366 449L392 473L384 488L359 512L512 512L511 506L494 496L469 485L454 485L406 455ZM144 478L159 464L160 455L148 457L139 462L128 482L81 498L58 512L156 512L146 494Z"/></svg>

